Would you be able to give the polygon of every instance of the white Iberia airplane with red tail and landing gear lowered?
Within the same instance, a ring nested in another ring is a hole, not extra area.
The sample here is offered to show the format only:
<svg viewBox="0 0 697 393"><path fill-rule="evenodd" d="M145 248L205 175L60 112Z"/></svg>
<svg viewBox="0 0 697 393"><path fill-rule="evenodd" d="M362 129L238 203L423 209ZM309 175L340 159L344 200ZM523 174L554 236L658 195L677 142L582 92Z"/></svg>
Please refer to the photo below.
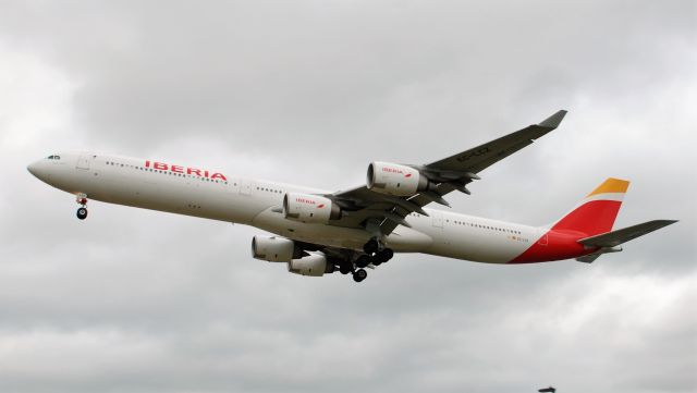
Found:
<svg viewBox="0 0 697 393"><path fill-rule="evenodd" d="M53 153L27 170L87 201L132 206L252 225L273 235L252 238L252 256L284 262L292 273L339 271L362 282L394 253L421 253L489 263L575 258L592 262L620 245L676 222L653 220L612 230L629 182L610 177L550 225L531 226L426 208L503 158L555 130L566 111L475 148L427 164L374 161L366 184L345 191L231 175L171 161L94 152Z"/></svg>

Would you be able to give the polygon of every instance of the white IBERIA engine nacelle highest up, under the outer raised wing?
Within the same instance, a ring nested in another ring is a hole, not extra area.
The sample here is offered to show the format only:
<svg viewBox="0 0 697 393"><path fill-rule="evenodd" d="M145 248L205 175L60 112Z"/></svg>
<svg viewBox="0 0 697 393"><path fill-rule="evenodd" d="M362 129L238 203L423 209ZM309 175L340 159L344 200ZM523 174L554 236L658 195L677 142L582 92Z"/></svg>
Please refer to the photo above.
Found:
<svg viewBox="0 0 697 393"><path fill-rule="evenodd" d="M428 189L428 177L414 168L375 161L368 165L368 189L394 196L412 196Z"/></svg>

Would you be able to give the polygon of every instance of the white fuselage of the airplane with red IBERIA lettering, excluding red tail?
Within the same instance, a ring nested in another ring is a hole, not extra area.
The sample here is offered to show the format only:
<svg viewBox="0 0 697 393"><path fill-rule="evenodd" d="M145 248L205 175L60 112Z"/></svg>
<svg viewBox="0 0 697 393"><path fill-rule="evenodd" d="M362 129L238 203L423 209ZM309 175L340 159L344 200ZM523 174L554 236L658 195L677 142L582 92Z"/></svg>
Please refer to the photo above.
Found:
<svg viewBox="0 0 697 393"><path fill-rule="evenodd" d="M331 192L196 170L154 168L143 159L103 155L61 155L29 170L44 182L90 200L253 225L278 235L325 246L359 250L367 231L285 219L285 193ZM148 168L149 167L149 168ZM545 229L442 210L412 213L412 228L398 226L386 245L398 253L425 253L481 262L504 263L529 248Z"/></svg>

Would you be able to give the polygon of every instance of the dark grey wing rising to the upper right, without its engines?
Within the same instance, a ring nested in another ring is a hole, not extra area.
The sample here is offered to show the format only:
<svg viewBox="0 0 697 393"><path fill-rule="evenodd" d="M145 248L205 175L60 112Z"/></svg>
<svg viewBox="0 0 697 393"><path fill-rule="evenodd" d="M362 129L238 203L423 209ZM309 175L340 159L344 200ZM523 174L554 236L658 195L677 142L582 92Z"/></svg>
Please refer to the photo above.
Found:
<svg viewBox="0 0 697 393"><path fill-rule="evenodd" d="M541 123L439 161L423 165L406 165L418 170L432 184L427 191L415 195L408 197L387 195L371 191L366 185L325 195L343 211L341 219L330 223L338 226L366 228L381 235L389 235L398 225L408 226L404 219L409 213L428 216L423 207L431 202L450 206L443 196L453 191L469 194L466 185L478 180L479 172L557 128L565 114L565 110L560 110Z"/></svg>

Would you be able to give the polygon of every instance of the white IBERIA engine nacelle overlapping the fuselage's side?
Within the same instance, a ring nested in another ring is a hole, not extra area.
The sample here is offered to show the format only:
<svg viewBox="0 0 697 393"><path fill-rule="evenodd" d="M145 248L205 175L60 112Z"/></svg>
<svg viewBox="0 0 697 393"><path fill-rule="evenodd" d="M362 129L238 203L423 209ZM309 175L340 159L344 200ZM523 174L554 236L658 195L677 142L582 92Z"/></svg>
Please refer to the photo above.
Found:
<svg viewBox="0 0 697 393"><path fill-rule="evenodd" d="M341 209L319 195L288 193L283 197L283 216L289 220L326 224L341 218Z"/></svg>

